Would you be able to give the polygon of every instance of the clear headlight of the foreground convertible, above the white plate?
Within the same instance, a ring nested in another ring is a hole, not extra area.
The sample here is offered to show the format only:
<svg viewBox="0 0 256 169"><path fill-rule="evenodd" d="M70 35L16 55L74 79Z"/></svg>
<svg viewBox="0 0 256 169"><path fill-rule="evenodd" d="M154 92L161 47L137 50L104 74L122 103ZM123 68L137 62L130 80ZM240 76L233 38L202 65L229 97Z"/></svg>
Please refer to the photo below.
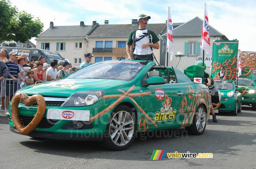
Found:
<svg viewBox="0 0 256 169"><path fill-rule="evenodd" d="M89 106L98 102L105 95L105 90L86 90L71 95L62 107Z"/></svg>

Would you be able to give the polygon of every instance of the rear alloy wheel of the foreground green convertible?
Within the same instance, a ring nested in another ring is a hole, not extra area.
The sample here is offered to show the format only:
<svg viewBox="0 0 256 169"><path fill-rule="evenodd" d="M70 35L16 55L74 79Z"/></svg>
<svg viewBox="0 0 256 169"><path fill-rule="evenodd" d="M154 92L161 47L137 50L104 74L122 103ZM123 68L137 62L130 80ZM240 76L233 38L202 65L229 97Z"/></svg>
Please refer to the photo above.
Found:
<svg viewBox="0 0 256 169"><path fill-rule="evenodd" d="M206 110L203 105L199 105L193 117L193 122L189 127L185 127L189 134L201 135L206 126Z"/></svg>

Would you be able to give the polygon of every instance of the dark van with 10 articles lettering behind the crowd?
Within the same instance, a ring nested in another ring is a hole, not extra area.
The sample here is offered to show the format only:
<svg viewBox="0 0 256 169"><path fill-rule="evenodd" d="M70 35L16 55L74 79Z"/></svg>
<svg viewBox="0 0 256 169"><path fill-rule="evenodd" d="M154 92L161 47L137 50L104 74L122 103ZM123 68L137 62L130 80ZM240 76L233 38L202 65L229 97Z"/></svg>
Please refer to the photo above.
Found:
<svg viewBox="0 0 256 169"><path fill-rule="evenodd" d="M25 55L27 55L28 60L34 59L35 61L37 61L39 56L43 55L43 56L45 56L46 62L49 64L51 63L52 60L65 61L65 59L62 58L59 53L49 51L49 50L37 49L37 48L27 48L27 47L5 47L5 46L1 46L0 50L2 48L5 48L8 51L8 53L13 51L20 56L22 54L25 54ZM7 59L9 59L9 55L7 56Z"/></svg>

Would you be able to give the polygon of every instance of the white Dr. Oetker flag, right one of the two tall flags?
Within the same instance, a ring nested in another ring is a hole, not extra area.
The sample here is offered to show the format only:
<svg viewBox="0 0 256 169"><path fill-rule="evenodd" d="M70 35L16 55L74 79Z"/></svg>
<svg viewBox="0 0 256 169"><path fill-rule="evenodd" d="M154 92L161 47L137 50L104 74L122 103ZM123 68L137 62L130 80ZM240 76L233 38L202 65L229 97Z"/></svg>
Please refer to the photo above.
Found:
<svg viewBox="0 0 256 169"><path fill-rule="evenodd" d="M204 3L204 21L201 35L200 47L205 51L208 56L212 56L212 49L210 43L209 20L207 14L206 4Z"/></svg>

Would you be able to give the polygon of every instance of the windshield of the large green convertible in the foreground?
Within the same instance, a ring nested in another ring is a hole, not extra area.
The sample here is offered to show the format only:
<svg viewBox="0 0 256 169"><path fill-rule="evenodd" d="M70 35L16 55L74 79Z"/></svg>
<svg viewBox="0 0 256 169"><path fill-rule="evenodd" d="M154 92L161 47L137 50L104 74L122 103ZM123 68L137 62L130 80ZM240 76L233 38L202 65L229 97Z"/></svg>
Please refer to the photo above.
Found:
<svg viewBox="0 0 256 169"><path fill-rule="evenodd" d="M144 62L137 61L105 61L95 63L78 70L67 78L86 78L86 79L114 79L131 80L143 67Z"/></svg>

